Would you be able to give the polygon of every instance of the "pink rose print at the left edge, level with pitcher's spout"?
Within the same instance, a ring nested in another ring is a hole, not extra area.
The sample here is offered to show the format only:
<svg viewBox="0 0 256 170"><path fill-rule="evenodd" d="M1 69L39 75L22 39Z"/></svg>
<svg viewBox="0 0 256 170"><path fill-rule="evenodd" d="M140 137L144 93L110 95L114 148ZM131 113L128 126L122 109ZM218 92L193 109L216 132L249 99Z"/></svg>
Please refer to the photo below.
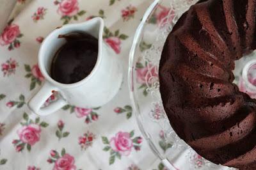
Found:
<svg viewBox="0 0 256 170"><path fill-rule="evenodd" d="M2 35L0 36L0 46L8 45L8 50L20 47L20 40L23 35L20 33L20 28L16 24L8 24L4 28Z"/></svg>

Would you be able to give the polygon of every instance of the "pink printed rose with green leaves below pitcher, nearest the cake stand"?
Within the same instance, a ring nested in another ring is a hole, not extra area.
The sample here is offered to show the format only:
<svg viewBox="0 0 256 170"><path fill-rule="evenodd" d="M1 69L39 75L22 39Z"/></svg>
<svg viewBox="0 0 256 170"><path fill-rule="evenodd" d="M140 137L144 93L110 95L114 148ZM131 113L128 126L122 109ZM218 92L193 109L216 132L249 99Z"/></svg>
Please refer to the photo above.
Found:
<svg viewBox="0 0 256 170"><path fill-rule="evenodd" d="M106 144L104 151L110 151L109 165L115 162L115 158L121 159L122 156L130 155L132 148L136 151L140 151L140 144L142 143L142 137L134 136L134 130L129 132L118 132L115 137L111 137L108 140L107 137L102 136L102 143Z"/></svg>

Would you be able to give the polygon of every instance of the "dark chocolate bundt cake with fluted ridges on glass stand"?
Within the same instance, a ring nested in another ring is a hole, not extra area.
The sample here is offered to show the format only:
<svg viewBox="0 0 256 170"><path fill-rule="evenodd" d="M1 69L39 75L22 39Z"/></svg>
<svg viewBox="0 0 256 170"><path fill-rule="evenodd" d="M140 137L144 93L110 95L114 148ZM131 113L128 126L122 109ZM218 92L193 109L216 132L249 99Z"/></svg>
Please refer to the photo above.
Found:
<svg viewBox="0 0 256 170"><path fill-rule="evenodd" d="M256 169L256 100L233 84L234 61L256 49L256 0L201 0L164 44L164 110L181 139L216 164Z"/></svg>

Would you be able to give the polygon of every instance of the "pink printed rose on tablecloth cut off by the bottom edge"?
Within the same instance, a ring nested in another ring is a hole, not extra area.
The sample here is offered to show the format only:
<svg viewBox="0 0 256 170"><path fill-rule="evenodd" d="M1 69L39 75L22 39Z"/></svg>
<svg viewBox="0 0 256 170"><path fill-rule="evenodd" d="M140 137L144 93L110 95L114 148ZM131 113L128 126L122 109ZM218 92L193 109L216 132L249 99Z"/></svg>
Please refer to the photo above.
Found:
<svg viewBox="0 0 256 170"><path fill-rule="evenodd" d="M58 153L56 150L51 150L51 157L47 159L49 164L54 164L53 170L76 170L75 158L66 153L65 148Z"/></svg>

